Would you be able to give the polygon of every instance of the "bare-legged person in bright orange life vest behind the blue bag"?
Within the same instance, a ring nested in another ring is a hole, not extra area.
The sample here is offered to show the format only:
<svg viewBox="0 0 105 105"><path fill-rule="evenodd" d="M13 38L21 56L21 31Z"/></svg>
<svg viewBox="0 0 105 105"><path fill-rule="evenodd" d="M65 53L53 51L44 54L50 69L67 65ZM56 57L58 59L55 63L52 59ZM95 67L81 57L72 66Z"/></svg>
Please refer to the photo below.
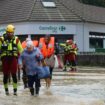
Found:
<svg viewBox="0 0 105 105"><path fill-rule="evenodd" d="M54 43L55 38L51 37L50 35L45 35L45 37L42 37L39 40L39 48L41 50L41 53L43 54L44 59L47 62L46 64L50 67L50 78L45 79L47 88L49 88L51 85L52 72L54 68ZM52 58L52 60L49 60L50 58Z"/></svg>

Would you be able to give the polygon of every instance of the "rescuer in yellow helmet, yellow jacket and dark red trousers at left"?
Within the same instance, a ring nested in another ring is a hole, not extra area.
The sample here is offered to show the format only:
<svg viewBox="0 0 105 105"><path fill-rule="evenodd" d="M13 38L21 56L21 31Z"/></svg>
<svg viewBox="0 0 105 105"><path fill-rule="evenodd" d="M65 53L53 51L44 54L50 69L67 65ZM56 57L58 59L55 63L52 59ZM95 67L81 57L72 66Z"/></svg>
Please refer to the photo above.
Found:
<svg viewBox="0 0 105 105"><path fill-rule="evenodd" d="M3 71L3 83L6 95L9 95L8 78L11 74L13 79L14 95L17 95L17 67L18 53L23 51L18 37L14 36L15 27L9 24L6 27L6 34L0 37L0 50Z"/></svg>

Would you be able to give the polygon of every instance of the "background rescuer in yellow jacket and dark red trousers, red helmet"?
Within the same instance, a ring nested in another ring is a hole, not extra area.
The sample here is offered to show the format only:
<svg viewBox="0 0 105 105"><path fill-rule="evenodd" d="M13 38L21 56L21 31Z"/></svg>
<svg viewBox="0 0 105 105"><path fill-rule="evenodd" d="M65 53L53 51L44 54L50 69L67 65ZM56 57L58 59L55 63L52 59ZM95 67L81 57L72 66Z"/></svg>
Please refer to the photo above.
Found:
<svg viewBox="0 0 105 105"><path fill-rule="evenodd" d="M74 44L73 40L67 40L65 44L60 44L60 46L64 47L64 70L67 71L67 61L69 63L69 66L71 66L70 70L71 72L76 72L76 54L78 51L77 45Z"/></svg>

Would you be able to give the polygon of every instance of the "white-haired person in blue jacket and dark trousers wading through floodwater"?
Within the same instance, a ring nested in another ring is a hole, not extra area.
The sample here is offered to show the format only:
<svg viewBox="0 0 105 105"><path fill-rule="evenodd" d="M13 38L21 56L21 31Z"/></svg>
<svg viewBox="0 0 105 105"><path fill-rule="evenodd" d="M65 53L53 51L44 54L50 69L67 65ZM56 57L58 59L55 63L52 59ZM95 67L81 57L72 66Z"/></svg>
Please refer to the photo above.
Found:
<svg viewBox="0 0 105 105"><path fill-rule="evenodd" d="M40 79L38 79L37 66L39 66L41 60L43 60L43 55L41 54L39 48L34 47L32 41L28 41L26 49L24 49L23 53L19 58L19 68L22 68L22 65L25 65L30 93L31 95L35 96L39 95L39 90L40 90ZM33 86L34 82L35 82L35 89Z"/></svg>

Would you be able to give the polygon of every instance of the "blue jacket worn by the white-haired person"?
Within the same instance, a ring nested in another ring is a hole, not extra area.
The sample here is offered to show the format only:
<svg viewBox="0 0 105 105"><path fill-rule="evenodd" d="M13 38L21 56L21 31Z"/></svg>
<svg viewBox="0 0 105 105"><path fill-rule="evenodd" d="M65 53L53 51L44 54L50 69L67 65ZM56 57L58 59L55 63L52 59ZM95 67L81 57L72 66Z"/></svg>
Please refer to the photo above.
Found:
<svg viewBox="0 0 105 105"><path fill-rule="evenodd" d="M32 52L28 52L27 49L20 55L18 63L24 64L27 75L35 75L38 72L40 61L43 59L39 48L34 47Z"/></svg>

